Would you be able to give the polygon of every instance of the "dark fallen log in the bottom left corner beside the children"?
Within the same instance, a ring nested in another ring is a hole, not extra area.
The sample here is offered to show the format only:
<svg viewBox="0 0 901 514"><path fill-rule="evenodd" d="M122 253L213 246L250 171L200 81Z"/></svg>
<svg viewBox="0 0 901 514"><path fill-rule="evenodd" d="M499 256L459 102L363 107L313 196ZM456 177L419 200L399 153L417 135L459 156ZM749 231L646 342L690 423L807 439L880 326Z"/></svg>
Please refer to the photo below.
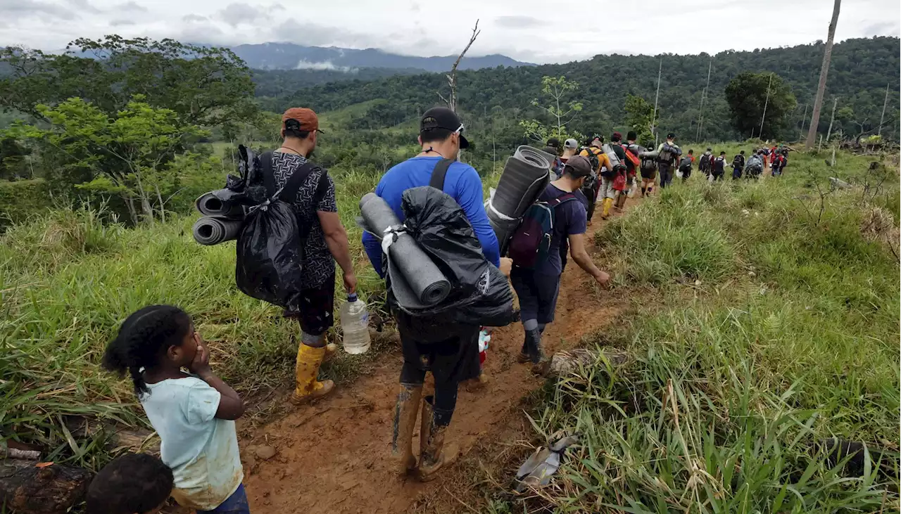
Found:
<svg viewBox="0 0 901 514"><path fill-rule="evenodd" d="M0 505L17 514L65 514L84 500L94 474L35 461L0 461Z"/></svg>

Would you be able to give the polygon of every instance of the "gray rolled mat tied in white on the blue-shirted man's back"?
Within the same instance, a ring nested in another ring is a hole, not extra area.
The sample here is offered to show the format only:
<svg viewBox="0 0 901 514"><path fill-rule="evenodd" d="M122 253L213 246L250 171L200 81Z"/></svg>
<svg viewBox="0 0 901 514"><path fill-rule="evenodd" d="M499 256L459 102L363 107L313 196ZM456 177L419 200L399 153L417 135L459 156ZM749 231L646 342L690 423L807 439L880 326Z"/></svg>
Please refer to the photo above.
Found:
<svg viewBox="0 0 901 514"><path fill-rule="evenodd" d="M359 212L369 230L381 237L388 227L400 225L391 207L376 194L360 198ZM447 298L451 282L419 247L413 236L401 234L388 248L388 273L397 302L411 309L430 307Z"/></svg>

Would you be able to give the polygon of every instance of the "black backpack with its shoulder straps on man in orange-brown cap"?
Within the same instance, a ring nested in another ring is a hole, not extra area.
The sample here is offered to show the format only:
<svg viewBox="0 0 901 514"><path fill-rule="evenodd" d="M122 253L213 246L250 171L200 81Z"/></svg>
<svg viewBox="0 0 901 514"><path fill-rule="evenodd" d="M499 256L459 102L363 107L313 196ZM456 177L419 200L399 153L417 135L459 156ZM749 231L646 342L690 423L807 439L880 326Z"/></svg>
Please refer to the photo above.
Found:
<svg viewBox="0 0 901 514"><path fill-rule="evenodd" d="M300 310L305 270L304 247L311 226L301 226L294 203L300 186L314 171L312 162L298 167L280 189L272 168L272 152L259 156L266 199L250 207L235 247L235 284L251 298L293 314ZM313 202L327 192L326 174L319 179Z"/></svg>

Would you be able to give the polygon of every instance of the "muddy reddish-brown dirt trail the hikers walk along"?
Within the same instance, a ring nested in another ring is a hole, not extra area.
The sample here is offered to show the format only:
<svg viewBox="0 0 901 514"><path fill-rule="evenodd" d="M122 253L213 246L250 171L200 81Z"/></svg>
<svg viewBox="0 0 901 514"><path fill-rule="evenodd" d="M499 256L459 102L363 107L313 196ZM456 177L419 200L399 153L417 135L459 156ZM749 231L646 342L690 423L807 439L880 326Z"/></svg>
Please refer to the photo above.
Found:
<svg viewBox="0 0 901 514"><path fill-rule="evenodd" d="M641 200L630 199L626 209ZM604 221L601 209L588 227L591 236ZM614 215L616 215L614 213ZM602 269L605 263L598 263ZM609 295L593 292L593 280L569 262L560 284L556 320L542 338L545 351L575 347L579 340L602 329L625 309ZM516 364L523 344L523 327L496 329L487 352L487 387L469 392L460 387L457 410L448 443L466 455L480 440L498 434L516 414L524 395L542 385L526 365ZM328 398L291 410L241 440L245 484L254 514L321 512L368 514L404 512L423 495L434 493L442 482L453 481L451 467L430 483L400 477L390 458L391 416L401 366L399 347L380 357L374 371ZM259 446L271 446L276 455L257 456ZM418 453L418 437L414 448Z"/></svg>

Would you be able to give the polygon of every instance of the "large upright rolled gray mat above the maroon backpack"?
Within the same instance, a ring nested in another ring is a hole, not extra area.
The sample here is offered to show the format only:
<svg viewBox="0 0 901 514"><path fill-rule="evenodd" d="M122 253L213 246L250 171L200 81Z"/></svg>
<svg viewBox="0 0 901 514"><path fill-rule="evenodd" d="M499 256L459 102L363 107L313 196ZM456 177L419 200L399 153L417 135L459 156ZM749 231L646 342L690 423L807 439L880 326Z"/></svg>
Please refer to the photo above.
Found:
<svg viewBox="0 0 901 514"><path fill-rule="evenodd" d="M531 149L522 152L522 149L523 147L520 147L513 157L507 158L504 172L497 183L497 190L489 207L489 210L503 214L507 218L523 217L525 211L535 203L551 182L550 165L540 155L531 151L540 150Z"/></svg>

